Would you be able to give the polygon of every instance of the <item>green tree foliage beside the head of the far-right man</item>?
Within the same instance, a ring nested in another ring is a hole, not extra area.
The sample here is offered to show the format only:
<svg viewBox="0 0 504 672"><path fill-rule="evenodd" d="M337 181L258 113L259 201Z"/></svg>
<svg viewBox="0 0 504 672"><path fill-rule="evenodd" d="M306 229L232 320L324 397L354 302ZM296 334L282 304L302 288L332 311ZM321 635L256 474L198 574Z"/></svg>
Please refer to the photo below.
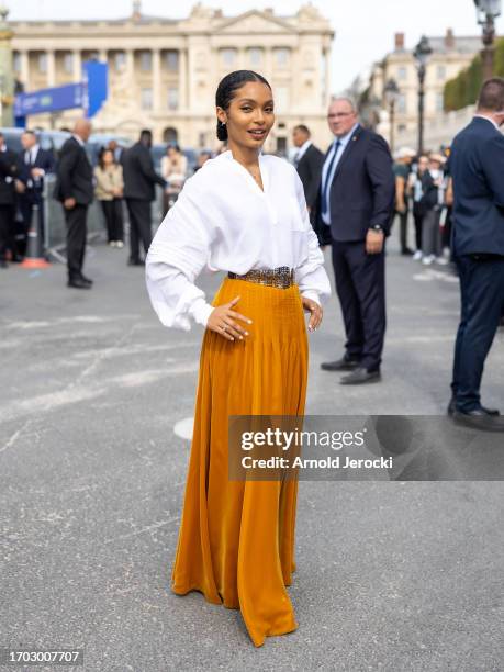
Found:
<svg viewBox="0 0 504 672"><path fill-rule="evenodd" d="M493 74L495 77L504 77L504 37L495 41ZM482 83L483 65L481 56L478 54L468 68L446 82L444 91L445 110L450 112L451 110L473 105Z"/></svg>

